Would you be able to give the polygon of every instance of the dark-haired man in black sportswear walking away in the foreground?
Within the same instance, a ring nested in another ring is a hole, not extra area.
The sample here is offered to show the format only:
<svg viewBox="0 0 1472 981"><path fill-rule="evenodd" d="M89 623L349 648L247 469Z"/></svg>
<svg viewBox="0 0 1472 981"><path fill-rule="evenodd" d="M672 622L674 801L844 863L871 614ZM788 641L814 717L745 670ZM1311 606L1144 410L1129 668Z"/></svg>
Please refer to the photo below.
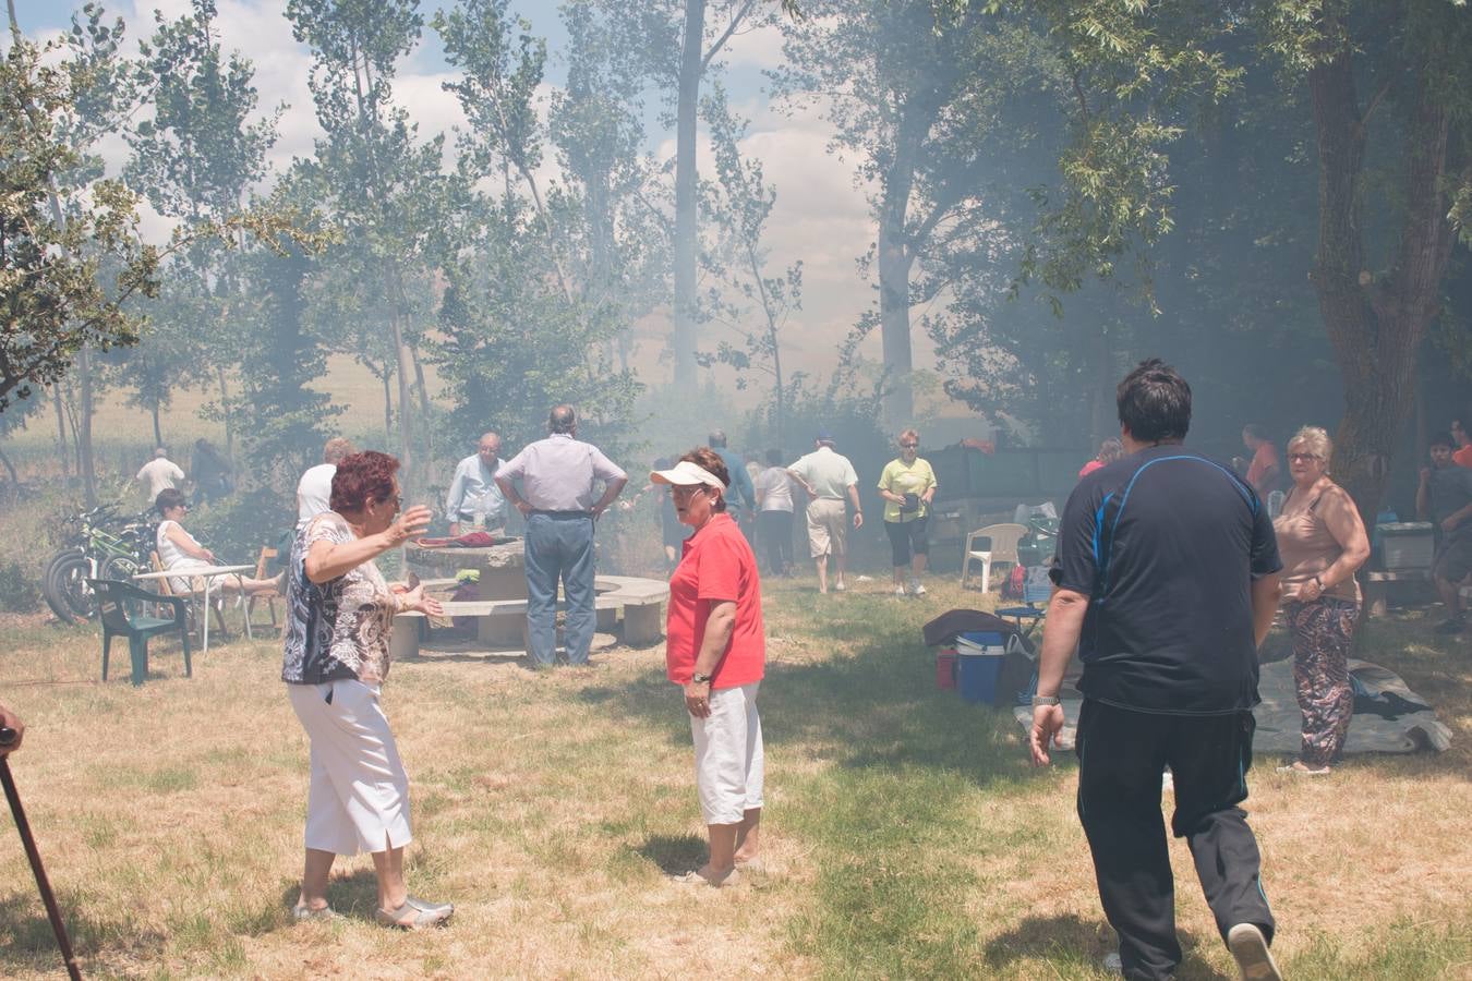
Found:
<svg viewBox="0 0 1472 981"><path fill-rule="evenodd" d="M1244 978L1278 978L1273 916L1247 799L1257 647L1278 609L1278 543L1257 493L1181 446L1191 387L1160 360L1119 385L1126 456L1085 477L1058 534L1029 735L1047 765L1063 728L1058 688L1083 662L1076 752L1079 821L1126 978L1181 963L1175 884L1160 812L1176 810L1217 930Z"/></svg>

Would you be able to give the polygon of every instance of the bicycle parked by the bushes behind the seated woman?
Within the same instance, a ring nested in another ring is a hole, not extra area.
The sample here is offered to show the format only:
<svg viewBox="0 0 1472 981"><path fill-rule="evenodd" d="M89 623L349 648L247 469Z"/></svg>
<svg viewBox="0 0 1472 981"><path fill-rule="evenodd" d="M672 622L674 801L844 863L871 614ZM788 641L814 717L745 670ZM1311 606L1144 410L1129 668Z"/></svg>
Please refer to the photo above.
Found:
<svg viewBox="0 0 1472 981"><path fill-rule="evenodd" d="M103 504L75 515L66 544L52 556L41 577L41 593L62 622L88 621L97 603L87 579L131 579L149 568L155 528L152 512L119 518L118 504Z"/></svg>

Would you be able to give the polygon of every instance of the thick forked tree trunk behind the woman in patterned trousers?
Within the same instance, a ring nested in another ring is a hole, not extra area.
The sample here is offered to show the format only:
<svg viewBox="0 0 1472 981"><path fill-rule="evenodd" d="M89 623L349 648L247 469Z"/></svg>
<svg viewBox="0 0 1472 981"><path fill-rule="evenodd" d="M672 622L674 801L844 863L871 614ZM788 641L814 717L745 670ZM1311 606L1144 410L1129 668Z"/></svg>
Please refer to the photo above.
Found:
<svg viewBox="0 0 1472 981"><path fill-rule="evenodd" d="M1328 22L1325 31L1340 25ZM1365 269L1365 119L1350 47L1309 75L1319 141L1319 252L1313 271L1325 332L1344 375L1345 412L1334 454L1335 479L1373 527L1390 465L1415 406L1416 354L1440 309L1451 256L1441 179L1450 119L1418 81L1406 126L1406 213L1391 266L1376 281Z"/></svg>

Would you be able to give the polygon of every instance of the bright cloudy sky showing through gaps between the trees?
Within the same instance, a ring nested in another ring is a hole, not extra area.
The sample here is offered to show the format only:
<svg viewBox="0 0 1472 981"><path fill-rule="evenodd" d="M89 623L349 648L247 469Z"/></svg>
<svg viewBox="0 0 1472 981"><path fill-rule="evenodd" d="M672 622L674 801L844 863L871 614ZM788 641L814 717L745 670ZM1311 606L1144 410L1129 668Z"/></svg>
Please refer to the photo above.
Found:
<svg viewBox="0 0 1472 981"><path fill-rule="evenodd" d="M65 28L74 9L81 3L68 0L18 0L18 16L26 34L54 37ZM280 169L293 156L308 156L312 140L319 135L306 87L311 59L306 49L291 38L283 12L284 0L219 0L218 28L227 49L237 49L255 62L261 106L286 103L280 122L280 138L271 151L271 163ZM425 19L439 7L425 3ZM177 18L190 9L187 0L121 0L109 4L109 13L128 24L135 41L138 34L152 32L153 12ZM524 0L518 10L533 32L548 38L552 49L548 82L561 82L559 49L564 34L556 16L555 0ZM874 228L868 218L864 190L855 187L852 168L827 153L829 126L821 113L807 110L789 115L773 106L761 71L782 59L780 35L776 29L760 29L733 38L729 53L727 85L733 107L752 121L745 151L762 160L765 176L776 185L777 203L770 221L773 269L786 268L795 259L804 262L804 310L801 329L789 329L785 356L795 368L827 375L835 346L842 340L858 315L873 303L874 290L863 279L855 260L873 241ZM455 96L442 88L449 78L439 47L439 38L425 29L420 47L400 65L394 82L397 100L409 107L420 125L420 134L449 132L464 122ZM658 157L673 156L674 134L661 131L651 109L649 150ZM447 141L450 143L450 141ZM113 162L121 162L125 147L118 140L107 150ZM702 172L708 172L710 154L702 156ZM155 228L162 228L155 222ZM711 328L718 329L718 328ZM871 337L866 354L877 359L877 337ZM668 366L655 366L658 341L640 344L645 372L668 374ZM917 337L916 366L927 368L933 356ZM657 381L655 378L648 378Z"/></svg>

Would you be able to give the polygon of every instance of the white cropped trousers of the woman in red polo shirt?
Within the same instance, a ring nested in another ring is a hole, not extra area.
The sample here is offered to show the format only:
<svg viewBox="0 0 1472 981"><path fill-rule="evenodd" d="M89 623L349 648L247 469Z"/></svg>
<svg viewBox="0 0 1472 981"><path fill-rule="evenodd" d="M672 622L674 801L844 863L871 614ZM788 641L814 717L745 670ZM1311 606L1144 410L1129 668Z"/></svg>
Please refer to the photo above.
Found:
<svg viewBox="0 0 1472 981"><path fill-rule="evenodd" d="M705 824L740 824L746 810L761 807L760 681L711 691L711 713L690 716L695 737L695 790Z"/></svg>

